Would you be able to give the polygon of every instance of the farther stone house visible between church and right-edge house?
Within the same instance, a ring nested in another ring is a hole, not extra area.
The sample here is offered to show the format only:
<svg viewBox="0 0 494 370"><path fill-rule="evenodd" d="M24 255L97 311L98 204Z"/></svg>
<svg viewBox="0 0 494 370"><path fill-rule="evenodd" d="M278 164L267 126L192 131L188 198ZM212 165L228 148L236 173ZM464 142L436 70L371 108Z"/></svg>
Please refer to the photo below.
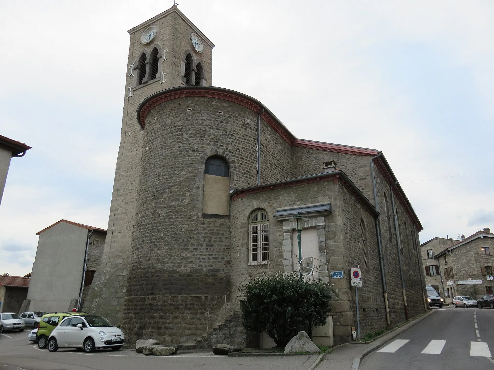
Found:
<svg viewBox="0 0 494 370"><path fill-rule="evenodd" d="M432 286L443 297L447 294L441 284L439 261L434 256L458 242L459 240L456 239L436 237L420 245L422 263L425 268L425 285Z"/></svg>

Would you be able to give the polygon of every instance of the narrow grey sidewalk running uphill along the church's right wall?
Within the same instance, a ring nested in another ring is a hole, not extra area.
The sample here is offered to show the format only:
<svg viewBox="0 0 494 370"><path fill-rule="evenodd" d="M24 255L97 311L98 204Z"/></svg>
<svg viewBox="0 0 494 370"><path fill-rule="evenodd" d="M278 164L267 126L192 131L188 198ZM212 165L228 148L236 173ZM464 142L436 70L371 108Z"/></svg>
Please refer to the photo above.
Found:
<svg viewBox="0 0 494 370"><path fill-rule="evenodd" d="M434 313L431 310L414 320L404 324L400 328L393 330L390 333L384 334L369 344L344 344L336 348L332 353L323 357L317 370L356 370L359 369L362 359L372 351L383 346L387 342L396 338L401 333L410 329L416 323L422 321Z"/></svg>

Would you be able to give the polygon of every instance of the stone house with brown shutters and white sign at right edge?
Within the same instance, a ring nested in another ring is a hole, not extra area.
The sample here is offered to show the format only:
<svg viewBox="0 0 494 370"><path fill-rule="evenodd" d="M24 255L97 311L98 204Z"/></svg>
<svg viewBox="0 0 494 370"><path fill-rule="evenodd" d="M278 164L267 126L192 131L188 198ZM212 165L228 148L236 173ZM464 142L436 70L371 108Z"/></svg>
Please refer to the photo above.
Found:
<svg viewBox="0 0 494 370"><path fill-rule="evenodd" d="M439 263L446 302L454 296L479 299L493 294L494 234L489 227L434 255Z"/></svg>

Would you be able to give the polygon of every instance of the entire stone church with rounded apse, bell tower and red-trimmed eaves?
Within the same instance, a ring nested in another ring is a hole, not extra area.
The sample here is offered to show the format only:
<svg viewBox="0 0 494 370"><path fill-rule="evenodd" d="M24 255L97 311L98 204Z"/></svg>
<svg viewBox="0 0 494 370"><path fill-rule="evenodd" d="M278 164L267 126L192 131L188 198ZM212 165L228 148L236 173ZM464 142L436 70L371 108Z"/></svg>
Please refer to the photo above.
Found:
<svg viewBox="0 0 494 370"><path fill-rule="evenodd" d="M246 346L238 287L298 269L297 213L301 257L335 293L336 344L356 326L351 267L363 334L426 309L422 225L381 151L296 138L258 100L213 86L214 45L176 6L128 32L108 233L85 311L129 344Z"/></svg>

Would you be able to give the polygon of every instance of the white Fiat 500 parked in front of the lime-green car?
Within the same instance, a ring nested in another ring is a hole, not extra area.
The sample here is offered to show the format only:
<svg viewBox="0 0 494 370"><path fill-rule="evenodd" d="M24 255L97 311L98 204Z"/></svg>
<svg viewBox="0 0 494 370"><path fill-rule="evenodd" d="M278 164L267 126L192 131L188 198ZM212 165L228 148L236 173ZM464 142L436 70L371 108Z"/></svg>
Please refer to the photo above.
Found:
<svg viewBox="0 0 494 370"><path fill-rule="evenodd" d="M96 348L118 351L124 345L124 333L101 316L71 316L65 318L50 334L48 350L76 348L94 352Z"/></svg>

